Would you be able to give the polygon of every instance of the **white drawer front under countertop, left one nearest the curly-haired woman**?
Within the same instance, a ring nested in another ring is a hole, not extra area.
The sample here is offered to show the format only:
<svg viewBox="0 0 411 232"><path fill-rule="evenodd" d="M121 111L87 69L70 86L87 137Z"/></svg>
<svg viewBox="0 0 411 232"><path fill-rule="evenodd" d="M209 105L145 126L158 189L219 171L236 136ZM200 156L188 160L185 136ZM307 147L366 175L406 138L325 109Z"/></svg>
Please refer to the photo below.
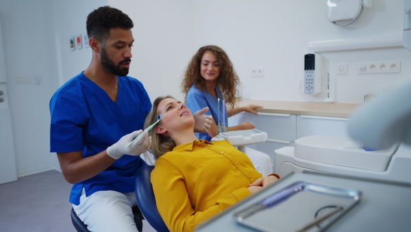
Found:
<svg viewBox="0 0 411 232"><path fill-rule="evenodd" d="M258 115L250 114L250 123L254 124L257 130L266 132L269 139L295 141L295 115L275 113L258 113Z"/></svg>

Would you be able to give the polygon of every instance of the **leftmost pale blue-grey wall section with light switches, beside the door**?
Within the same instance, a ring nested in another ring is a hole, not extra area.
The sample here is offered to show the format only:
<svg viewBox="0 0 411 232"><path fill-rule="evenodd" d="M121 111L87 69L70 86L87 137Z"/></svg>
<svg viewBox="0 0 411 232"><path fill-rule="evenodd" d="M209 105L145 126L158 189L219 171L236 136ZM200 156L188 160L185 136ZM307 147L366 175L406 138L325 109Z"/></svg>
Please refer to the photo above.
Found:
<svg viewBox="0 0 411 232"><path fill-rule="evenodd" d="M0 1L18 176L54 167L47 138L49 79L57 70L51 20L45 16L50 10L45 1ZM18 76L34 78L36 75L42 78L42 84L16 83Z"/></svg>

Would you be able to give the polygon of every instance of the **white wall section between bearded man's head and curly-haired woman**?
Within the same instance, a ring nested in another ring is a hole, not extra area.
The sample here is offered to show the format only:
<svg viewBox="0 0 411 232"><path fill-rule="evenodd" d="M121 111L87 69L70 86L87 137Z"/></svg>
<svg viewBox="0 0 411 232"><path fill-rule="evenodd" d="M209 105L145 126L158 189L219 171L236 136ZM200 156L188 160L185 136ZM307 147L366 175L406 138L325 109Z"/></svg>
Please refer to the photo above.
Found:
<svg viewBox="0 0 411 232"><path fill-rule="evenodd" d="M182 75L194 55L194 23L189 0L109 0L134 22L129 76L144 84L151 101L160 95L183 100Z"/></svg>

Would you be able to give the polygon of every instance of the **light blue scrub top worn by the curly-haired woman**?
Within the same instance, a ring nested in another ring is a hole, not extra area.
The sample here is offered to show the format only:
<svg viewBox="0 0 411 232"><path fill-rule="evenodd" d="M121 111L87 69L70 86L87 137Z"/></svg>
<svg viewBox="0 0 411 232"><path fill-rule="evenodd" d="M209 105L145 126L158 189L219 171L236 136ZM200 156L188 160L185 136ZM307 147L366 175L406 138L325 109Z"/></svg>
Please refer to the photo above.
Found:
<svg viewBox="0 0 411 232"><path fill-rule="evenodd" d="M218 118L220 115L220 124L223 122L223 96L220 93L219 88L215 87L217 98L220 98L220 107L218 107L218 100L214 98L208 91L200 91L194 85L187 92L186 96L186 107L195 113L204 107L209 107L210 109L205 113L205 115L212 115L217 126L219 125ZM218 109L219 108L219 109ZM219 112L218 112L219 111ZM225 126L228 126L227 117L227 107L225 107ZM206 141L211 141L210 135L208 133L195 133L197 138L204 139Z"/></svg>

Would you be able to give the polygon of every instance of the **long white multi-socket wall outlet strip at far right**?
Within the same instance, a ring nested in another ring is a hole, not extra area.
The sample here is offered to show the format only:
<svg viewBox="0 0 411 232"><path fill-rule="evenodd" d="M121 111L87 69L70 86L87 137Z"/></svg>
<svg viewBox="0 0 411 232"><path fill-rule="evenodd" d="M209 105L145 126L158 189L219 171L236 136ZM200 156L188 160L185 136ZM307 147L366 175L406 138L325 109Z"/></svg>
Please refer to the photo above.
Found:
<svg viewBox="0 0 411 232"><path fill-rule="evenodd" d="M401 60L358 62L358 73L399 73Z"/></svg>

